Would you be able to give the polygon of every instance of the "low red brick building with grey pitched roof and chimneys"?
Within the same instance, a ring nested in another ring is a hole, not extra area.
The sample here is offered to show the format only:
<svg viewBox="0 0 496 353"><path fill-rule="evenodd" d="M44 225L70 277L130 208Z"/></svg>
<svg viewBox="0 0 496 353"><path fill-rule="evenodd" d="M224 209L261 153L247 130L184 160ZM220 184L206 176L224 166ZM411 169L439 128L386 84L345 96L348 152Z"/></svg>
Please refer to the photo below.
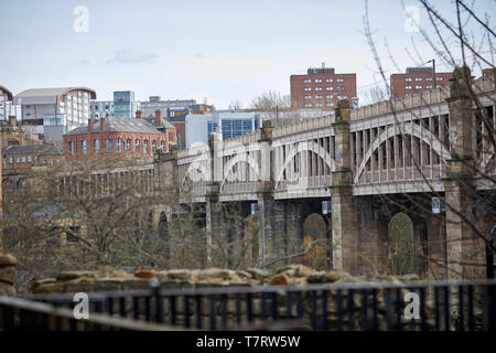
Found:
<svg viewBox="0 0 496 353"><path fill-rule="evenodd" d="M169 152L176 145L175 128L162 120L155 111L153 124L141 118L105 117L98 121L89 119L88 126L76 128L64 135L64 152L67 160L80 156L93 157L151 157L157 150Z"/></svg>

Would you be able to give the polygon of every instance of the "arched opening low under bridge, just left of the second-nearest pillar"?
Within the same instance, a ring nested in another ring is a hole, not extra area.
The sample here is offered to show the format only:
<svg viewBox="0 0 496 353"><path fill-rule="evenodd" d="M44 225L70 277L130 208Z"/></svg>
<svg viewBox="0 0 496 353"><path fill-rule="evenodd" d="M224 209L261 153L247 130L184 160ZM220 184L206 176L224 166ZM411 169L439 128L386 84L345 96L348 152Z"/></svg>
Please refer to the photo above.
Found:
<svg viewBox="0 0 496 353"><path fill-rule="evenodd" d="M332 266L332 249L328 246L331 242L331 222L328 217L313 212L303 221L303 245L315 243L312 249L303 256L303 264L315 269L330 269Z"/></svg>

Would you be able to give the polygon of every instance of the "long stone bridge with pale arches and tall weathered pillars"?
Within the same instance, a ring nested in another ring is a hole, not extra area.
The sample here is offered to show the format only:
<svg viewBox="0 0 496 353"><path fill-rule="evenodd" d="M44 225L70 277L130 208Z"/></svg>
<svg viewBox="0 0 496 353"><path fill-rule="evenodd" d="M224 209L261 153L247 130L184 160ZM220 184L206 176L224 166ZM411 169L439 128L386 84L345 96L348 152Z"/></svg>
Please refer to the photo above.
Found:
<svg viewBox="0 0 496 353"><path fill-rule="evenodd" d="M225 141L213 133L177 151L182 201L205 204L211 234L222 232L219 203L240 203L246 215L257 210L261 265L288 250L276 239L302 239L304 220L327 201L330 265L354 274L388 264L388 222L403 211L413 223L416 271L484 276L481 234L487 240L495 223L495 86L455 76L451 87L298 125L265 121ZM476 193L489 196L488 210ZM444 213L432 213L432 197L445 202ZM464 217L472 208L476 229Z"/></svg>

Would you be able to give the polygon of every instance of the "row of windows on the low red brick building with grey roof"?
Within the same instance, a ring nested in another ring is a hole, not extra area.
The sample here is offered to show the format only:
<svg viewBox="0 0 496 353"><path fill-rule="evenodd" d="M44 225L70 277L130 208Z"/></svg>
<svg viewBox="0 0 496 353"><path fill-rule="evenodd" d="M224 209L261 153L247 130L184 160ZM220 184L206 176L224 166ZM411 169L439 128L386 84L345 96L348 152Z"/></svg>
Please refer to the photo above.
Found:
<svg viewBox="0 0 496 353"><path fill-rule="evenodd" d="M79 141L79 146L80 146L80 152L83 154L87 153L87 141L86 140ZM118 139L106 139L105 140L105 151L107 153L114 152L114 147L115 147L116 153L120 153L122 151L130 151L131 150L131 139L123 140L123 139L118 138ZM157 148L158 148L157 141L153 140L152 141L153 153L157 151ZM74 154L76 152L75 141L68 141L68 149L69 149L71 154ZM160 149L162 151L165 151L165 141L160 141ZM99 139L93 140L93 152L95 154L100 152L100 140ZM134 140L134 152L137 152L137 153L141 152L140 139ZM149 140L143 140L142 152L144 154L149 153Z"/></svg>

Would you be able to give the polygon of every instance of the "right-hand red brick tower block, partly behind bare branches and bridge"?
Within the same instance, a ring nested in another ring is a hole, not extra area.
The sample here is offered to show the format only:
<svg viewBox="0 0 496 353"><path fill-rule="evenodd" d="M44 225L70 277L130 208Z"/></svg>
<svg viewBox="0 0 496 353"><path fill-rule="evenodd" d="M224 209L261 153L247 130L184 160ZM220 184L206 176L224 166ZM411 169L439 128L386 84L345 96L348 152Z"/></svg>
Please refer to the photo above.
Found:
<svg viewBox="0 0 496 353"><path fill-rule="evenodd" d="M390 76L391 94L393 98L408 97L414 93L445 87L452 77L453 73L434 74L432 67L408 67L405 74Z"/></svg>

